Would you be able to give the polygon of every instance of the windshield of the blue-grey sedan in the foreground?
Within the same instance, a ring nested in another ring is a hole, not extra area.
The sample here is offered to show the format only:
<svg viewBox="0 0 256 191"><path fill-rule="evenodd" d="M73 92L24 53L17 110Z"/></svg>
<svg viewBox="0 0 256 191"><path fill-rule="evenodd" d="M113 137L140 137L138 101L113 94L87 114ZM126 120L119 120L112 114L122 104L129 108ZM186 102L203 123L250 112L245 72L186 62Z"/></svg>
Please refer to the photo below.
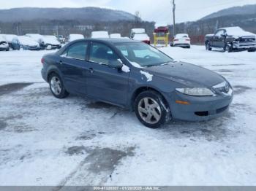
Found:
<svg viewBox="0 0 256 191"><path fill-rule="evenodd" d="M142 67L174 62L172 58L145 43L118 43L116 47L130 63Z"/></svg>

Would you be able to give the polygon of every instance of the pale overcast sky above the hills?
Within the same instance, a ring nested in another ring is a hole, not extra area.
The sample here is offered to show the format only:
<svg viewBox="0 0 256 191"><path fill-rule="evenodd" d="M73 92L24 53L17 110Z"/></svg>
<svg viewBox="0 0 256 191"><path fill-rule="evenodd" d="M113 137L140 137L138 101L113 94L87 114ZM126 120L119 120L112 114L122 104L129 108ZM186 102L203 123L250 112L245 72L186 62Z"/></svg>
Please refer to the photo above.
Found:
<svg viewBox="0 0 256 191"><path fill-rule="evenodd" d="M244 4L256 4L256 0L176 0L176 22L198 20ZM139 11L143 20L172 23L170 0L0 0L0 9L14 7L106 7L132 14Z"/></svg>

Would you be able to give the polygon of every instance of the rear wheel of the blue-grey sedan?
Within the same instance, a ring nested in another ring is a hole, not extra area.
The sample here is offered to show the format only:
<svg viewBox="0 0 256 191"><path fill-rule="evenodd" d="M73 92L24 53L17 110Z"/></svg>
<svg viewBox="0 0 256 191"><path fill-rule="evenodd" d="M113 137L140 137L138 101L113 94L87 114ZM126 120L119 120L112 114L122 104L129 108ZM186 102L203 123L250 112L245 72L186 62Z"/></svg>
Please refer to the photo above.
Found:
<svg viewBox="0 0 256 191"><path fill-rule="evenodd" d="M66 98L69 95L67 90L65 90L64 88L64 84L59 74L56 74L56 73L50 74L49 85L50 85L50 91L51 93L53 93L54 97L61 99L61 98Z"/></svg>

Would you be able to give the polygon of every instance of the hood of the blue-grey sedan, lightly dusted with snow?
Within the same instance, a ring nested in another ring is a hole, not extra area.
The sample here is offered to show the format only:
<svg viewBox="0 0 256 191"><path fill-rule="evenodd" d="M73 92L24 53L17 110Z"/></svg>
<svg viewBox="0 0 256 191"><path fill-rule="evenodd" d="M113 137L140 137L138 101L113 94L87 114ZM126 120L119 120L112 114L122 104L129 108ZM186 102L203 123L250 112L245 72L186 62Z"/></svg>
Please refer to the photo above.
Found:
<svg viewBox="0 0 256 191"><path fill-rule="evenodd" d="M214 71L184 62L143 68L143 71L147 71L157 77L170 79L187 87L213 87L225 80Z"/></svg>

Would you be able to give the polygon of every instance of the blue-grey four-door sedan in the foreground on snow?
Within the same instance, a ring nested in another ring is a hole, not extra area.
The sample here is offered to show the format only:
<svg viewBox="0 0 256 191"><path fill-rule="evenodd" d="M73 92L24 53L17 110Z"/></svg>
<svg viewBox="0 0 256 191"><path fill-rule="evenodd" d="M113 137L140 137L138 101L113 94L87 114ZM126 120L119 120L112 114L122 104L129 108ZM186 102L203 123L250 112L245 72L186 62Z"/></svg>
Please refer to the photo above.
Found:
<svg viewBox="0 0 256 191"><path fill-rule="evenodd" d="M56 98L77 93L134 109L149 128L221 116L233 99L230 83L219 74L130 39L77 40L43 56L42 64Z"/></svg>

